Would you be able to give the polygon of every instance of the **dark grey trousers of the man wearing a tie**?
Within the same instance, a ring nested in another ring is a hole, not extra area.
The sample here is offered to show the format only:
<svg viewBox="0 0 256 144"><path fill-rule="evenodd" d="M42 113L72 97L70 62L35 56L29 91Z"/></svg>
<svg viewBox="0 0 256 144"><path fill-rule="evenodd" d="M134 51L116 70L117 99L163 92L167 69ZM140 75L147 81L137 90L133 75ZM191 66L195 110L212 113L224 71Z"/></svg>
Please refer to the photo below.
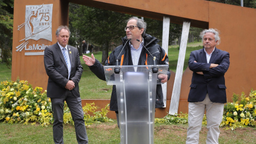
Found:
<svg viewBox="0 0 256 144"><path fill-rule="evenodd" d="M88 143L88 137L84 124L84 113L80 97L75 97L69 90L62 98L51 98L53 111L53 140L55 143L63 141L63 106L67 102L71 116L75 123L76 139L78 143Z"/></svg>

